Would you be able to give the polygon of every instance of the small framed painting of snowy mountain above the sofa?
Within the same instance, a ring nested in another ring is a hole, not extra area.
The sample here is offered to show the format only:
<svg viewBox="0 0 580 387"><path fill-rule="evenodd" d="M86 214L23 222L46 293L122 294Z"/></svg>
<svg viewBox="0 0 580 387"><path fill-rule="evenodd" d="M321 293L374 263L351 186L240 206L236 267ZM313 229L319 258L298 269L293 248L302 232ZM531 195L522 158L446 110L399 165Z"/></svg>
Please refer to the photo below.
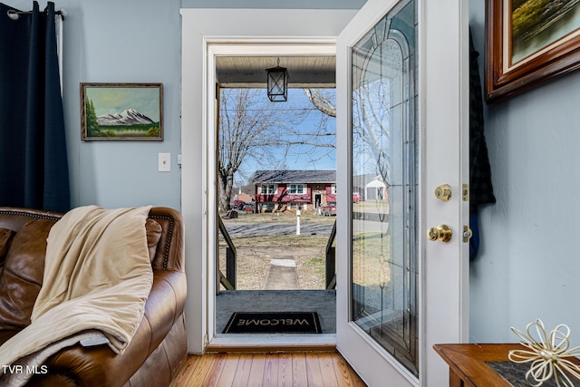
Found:
<svg viewBox="0 0 580 387"><path fill-rule="evenodd" d="M161 83L81 83L82 140L163 140Z"/></svg>

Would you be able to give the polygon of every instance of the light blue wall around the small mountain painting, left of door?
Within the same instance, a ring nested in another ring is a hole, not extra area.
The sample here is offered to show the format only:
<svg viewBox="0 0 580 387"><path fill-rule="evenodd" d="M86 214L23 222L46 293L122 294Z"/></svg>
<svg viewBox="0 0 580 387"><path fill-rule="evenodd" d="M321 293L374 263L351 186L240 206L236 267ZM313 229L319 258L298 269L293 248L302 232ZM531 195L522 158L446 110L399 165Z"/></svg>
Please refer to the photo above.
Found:
<svg viewBox="0 0 580 387"><path fill-rule="evenodd" d="M63 103L73 207L180 208L181 7L359 8L364 0L56 0L65 9ZM5 0L20 10L31 0ZM46 1L39 1L41 9ZM243 5L242 5L243 4ZM217 21L218 22L218 21ZM162 82L165 140L82 141L81 82ZM171 171L158 172L158 154ZM187 179L187 177L184 177Z"/></svg>

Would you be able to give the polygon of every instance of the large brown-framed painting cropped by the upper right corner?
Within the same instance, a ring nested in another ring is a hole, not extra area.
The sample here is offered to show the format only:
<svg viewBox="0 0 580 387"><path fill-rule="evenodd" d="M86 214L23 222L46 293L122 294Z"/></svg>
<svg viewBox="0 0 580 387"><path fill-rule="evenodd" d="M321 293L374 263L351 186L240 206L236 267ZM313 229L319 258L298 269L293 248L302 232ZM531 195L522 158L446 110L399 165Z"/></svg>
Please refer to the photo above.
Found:
<svg viewBox="0 0 580 387"><path fill-rule="evenodd" d="M486 101L580 68L580 0L487 0Z"/></svg>

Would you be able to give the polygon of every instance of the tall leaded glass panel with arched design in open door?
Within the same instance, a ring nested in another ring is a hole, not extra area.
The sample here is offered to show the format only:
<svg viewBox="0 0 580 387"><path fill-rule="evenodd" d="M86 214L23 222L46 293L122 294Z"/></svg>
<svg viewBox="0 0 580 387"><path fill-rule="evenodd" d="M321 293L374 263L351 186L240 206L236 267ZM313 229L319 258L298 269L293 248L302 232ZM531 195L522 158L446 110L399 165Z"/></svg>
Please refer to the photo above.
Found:
<svg viewBox="0 0 580 387"><path fill-rule="evenodd" d="M401 1L353 46L351 310L418 375L416 15Z"/></svg>

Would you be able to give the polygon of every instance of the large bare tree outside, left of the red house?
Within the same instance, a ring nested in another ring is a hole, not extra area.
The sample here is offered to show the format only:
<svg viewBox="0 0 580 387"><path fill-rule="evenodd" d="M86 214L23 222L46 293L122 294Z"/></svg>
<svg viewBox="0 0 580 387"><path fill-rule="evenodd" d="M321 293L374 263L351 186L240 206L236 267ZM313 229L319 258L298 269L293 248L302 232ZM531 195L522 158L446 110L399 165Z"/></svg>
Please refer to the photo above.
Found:
<svg viewBox="0 0 580 387"><path fill-rule="evenodd" d="M265 169L286 169L285 158L303 153L314 159L314 149L334 149L334 131L325 118L301 127L312 106L269 102L264 89L222 89L219 102L219 209L229 208L234 178L247 159ZM319 155L317 157L320 157Z"/></svg>

